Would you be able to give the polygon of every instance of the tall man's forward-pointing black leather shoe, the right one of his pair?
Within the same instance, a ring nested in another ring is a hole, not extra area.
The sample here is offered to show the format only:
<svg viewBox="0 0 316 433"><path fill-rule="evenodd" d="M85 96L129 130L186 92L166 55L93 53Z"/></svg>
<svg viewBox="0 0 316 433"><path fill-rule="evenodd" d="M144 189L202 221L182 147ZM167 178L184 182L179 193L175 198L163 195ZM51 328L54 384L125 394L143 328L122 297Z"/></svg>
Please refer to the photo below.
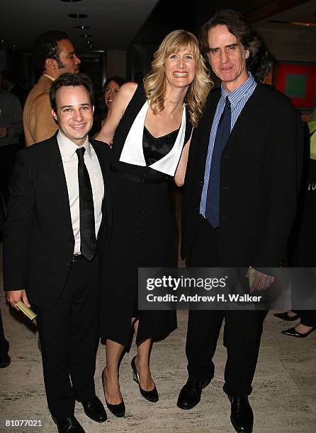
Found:
<svg viewBox="0 0 316 433"><path fill-rule="evenodd" d="M254 425L254 414L252 407L249 405L248 397L229 396L232 403L230 412L230 421L238 433L251 433Z"/></svg>

